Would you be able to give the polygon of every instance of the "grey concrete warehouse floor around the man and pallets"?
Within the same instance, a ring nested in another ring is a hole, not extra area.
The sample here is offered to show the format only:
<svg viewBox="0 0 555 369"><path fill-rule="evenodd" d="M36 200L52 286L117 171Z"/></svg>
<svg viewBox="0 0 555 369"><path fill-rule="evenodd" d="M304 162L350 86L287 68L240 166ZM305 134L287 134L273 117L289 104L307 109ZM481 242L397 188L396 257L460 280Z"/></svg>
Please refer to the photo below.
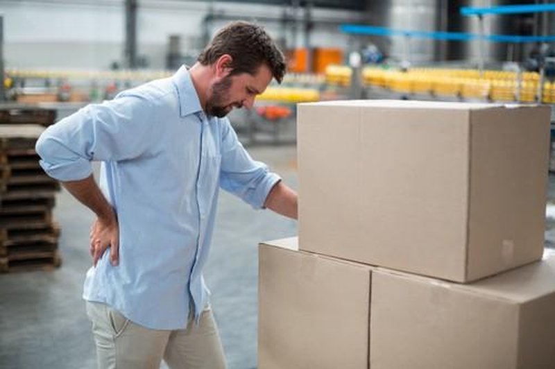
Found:
<svg viewBox="0 0 555 369"><path fill-rule="evenodd" d="M294 146L256 147L250 153L297 187ZM549 198L555 199L555 176L549 178ZM546 244L553 247L555 205L549 206ZM54 214L62 226L62 267L0 275L0 368L96 367L80 298L90 264L87 242L93 216L65 191L58 195ZM257 366L257 243L296 233L295 221L257 212L229 194L220 198L205 277L230 369Z"/></svg>

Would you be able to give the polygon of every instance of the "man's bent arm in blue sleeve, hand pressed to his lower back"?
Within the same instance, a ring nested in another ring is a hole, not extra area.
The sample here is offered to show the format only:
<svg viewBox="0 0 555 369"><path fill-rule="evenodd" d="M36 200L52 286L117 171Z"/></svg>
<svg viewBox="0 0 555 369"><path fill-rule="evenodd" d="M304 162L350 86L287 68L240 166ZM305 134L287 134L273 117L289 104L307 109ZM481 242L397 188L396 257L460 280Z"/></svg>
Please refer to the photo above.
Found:
<svg viewBox="0 0 555 369"><path fill-rule="evenodd" d="M157 139L154 114L149 101L124 96L88 105L46 128L37 140L42 169L97 216L90 234L94 265L108 247L112 264L117 264L119 231L114 209L94 181L91 162L142 155L150 139Z"/></svg>

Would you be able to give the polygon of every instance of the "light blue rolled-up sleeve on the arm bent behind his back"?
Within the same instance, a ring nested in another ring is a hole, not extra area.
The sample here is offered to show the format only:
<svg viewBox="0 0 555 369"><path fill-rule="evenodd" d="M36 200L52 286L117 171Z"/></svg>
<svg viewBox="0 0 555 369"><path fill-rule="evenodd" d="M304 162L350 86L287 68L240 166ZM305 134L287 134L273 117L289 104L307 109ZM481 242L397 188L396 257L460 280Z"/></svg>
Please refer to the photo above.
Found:
<svg viewBox="0 0 555 369"><path fill-rule="evenodd" d="M137 157L148 148L152 117L152 103L141 96L87 105L44 130L35 146L40 166L57 180L81 180L94 160Z"/></svg>

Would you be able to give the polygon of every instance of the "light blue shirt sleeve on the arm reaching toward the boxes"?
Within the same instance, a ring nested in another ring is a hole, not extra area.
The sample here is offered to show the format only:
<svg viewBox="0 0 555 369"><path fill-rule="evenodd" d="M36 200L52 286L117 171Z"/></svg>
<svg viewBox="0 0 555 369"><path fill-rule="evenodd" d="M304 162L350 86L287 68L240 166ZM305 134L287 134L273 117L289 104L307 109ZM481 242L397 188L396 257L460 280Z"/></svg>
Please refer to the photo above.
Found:
<svg viewBox="0 0 555 369"><path fill-rule="evenodd" d="M266 197L281 178L247 153L228 119L222 121L220 187L239 196L255 209L264 207Z"/></svg>

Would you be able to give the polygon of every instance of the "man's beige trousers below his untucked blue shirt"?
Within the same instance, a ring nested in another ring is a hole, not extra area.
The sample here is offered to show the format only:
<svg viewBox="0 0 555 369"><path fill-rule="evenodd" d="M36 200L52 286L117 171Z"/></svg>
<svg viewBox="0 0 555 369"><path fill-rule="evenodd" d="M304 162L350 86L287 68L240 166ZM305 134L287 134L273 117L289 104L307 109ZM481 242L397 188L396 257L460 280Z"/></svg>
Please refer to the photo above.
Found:
<svg viewBox="0 0 555 369"><path fill-rule="evenodd" d="M212 310L207 307L187 328L148 329L106 304L87 302L99 369L225 369L223 348Z"/></svg>

